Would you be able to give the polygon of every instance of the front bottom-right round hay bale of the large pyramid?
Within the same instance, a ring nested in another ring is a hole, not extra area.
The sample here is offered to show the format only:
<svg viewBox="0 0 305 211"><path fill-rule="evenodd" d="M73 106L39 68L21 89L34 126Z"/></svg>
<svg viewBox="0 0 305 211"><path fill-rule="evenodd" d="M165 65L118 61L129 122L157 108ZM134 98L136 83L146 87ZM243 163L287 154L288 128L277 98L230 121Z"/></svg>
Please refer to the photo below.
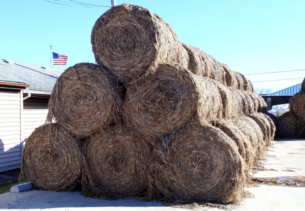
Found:
<svg viewBox="0 0 305 211"><path fill-rule="evenodd" d="M218 128L185 126L163 137L154 157L152 196L187 202L239 199L244 162L234 141Z"/></svg>

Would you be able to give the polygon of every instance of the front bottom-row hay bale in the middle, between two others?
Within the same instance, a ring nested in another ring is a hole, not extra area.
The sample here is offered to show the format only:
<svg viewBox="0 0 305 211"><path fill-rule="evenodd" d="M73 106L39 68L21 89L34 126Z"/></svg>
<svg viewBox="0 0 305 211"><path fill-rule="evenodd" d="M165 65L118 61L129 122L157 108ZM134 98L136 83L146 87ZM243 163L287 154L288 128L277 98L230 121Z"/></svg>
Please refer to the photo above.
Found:
<svg viewBox="0 0 305 211"><path fill-rule="evenodd" d="M83 147L83 192L110 198L139 195L146 187L151 149L124 126L88 138Z"/></svg>

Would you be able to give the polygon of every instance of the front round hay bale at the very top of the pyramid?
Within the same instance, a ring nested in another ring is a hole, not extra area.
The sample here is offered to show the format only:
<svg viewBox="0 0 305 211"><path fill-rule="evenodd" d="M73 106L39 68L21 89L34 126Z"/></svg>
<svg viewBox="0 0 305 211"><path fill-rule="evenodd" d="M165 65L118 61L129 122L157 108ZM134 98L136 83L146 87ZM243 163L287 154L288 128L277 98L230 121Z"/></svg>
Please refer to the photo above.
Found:
<svg viewBox="0 0 305 211"><path fill-rule="evenodd" d="M136 5L113 6L99 17L91 44L97 63L123 82L154 72L160 63L188 66L188 53L169 24Z"/></svg>

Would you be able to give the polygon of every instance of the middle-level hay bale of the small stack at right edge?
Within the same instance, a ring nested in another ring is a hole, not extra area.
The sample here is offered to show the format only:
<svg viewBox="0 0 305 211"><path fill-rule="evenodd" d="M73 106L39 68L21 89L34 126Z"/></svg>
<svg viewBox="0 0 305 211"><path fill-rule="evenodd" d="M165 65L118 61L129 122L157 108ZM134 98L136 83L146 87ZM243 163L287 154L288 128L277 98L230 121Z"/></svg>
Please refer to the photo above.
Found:
<svg viewBox="0 0 305 211"><path fill-rule="evenodd" d="M289 100L289 110L299 118L305 118L305 91L296 93Z"/></svg>

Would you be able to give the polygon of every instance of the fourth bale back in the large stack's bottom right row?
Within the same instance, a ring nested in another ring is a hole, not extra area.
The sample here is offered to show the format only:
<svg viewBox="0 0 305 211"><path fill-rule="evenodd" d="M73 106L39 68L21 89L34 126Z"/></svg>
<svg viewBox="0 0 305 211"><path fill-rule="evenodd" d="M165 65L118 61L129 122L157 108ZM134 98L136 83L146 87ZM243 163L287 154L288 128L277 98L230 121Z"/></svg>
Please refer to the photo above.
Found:
<svg viewBox="0 0 305 211"><path fill-rule="evenodd" d="M260 126L264 139L262 147L268 147L271 143L271 126L268 119L262 113L248 114L247 116L253 119L258 126Z"/></svg>

